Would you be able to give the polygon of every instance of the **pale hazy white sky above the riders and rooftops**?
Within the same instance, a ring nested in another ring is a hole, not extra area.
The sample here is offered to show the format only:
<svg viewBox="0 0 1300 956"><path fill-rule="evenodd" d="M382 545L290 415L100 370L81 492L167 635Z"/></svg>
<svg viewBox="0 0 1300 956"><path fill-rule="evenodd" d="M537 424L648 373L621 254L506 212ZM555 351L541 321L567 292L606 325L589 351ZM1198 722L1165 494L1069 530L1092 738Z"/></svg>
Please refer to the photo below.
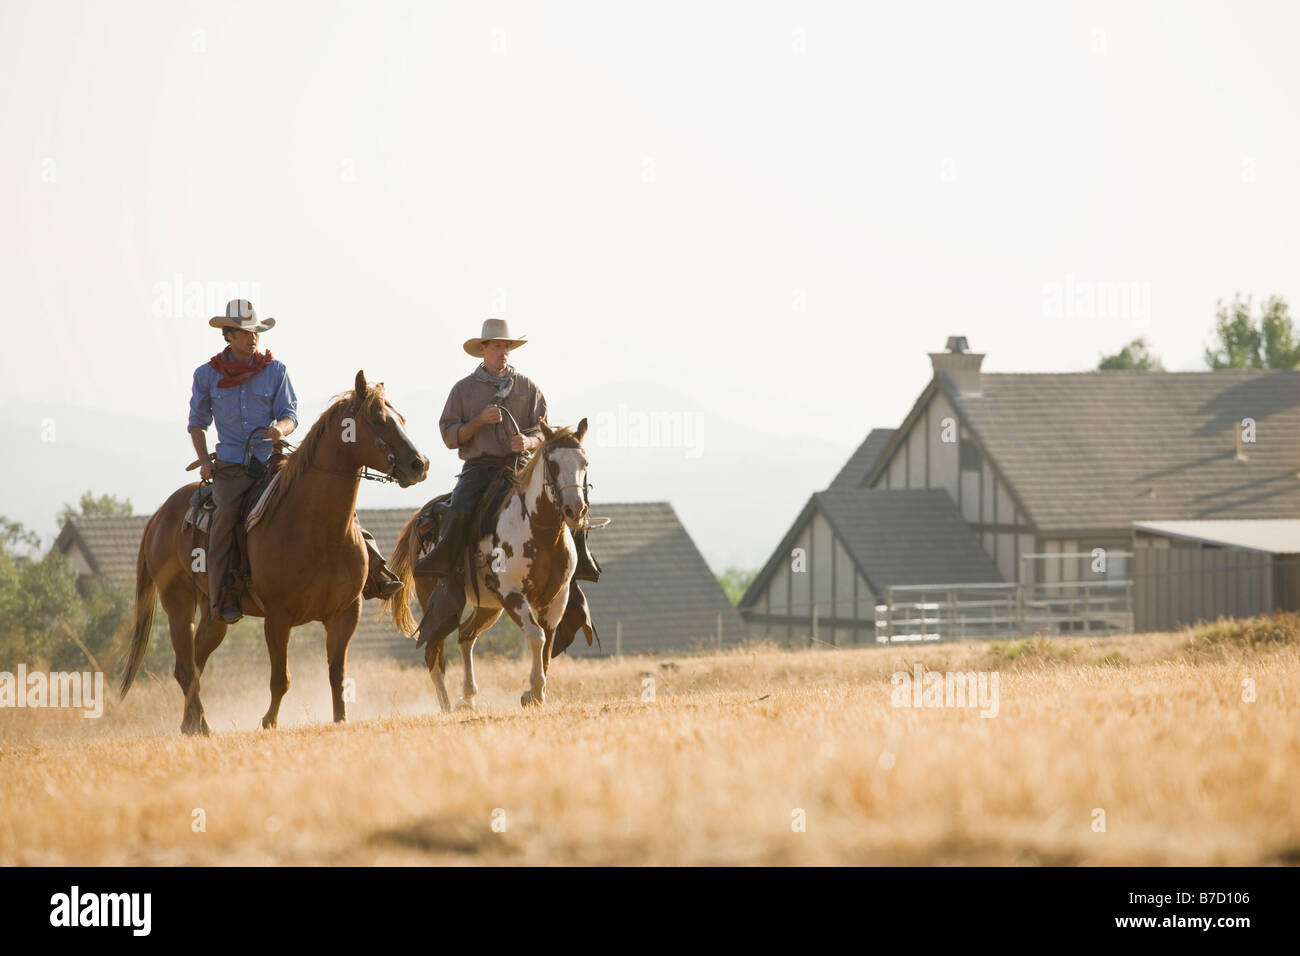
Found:
<svg viewBox="0 0 1300 956"><path fill-rule="evenodd" d="M1297 21L0 0L0 402L34 436L30 402L152 418L188 460L233 287L278 320L306 418L364 367L434 440L490 315L560 423L664 385L682 406L644 411L845 457L949 334L987 371L1086 369L1138 334L1199 368L1217 298L1300 304Z"/></svg>

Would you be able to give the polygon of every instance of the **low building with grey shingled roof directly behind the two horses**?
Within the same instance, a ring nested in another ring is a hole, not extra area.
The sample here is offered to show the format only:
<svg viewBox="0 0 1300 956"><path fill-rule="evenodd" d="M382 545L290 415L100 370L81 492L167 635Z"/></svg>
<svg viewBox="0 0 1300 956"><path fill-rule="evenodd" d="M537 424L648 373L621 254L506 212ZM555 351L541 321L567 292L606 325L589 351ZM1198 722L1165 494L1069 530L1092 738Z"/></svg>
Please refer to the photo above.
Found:
<svg viewBox="0 0 1300 956"><path fill-rule="evenodd" d="M602 646L577 640L575 654L681 652L745 637L745 623L703 555L667 502L598 505L606 528L592 532L592 549L603 574L582 584ZM390 554L407 509L360 509L358 518ZM82 576L103 578L134 592L135 558L146 515L74 518L64 524L53 550ZM421 654L367 602L352 639L354 653L395 656L412 662ZM498 624L500 627L500 624Z"/></svg>

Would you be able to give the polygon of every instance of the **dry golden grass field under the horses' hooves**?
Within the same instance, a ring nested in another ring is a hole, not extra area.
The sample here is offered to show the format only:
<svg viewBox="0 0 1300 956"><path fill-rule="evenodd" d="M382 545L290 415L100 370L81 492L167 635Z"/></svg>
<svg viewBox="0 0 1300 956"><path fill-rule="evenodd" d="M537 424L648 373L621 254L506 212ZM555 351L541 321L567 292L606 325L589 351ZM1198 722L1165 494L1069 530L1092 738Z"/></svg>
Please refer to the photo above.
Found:
<svg viewBox="0 0 1300 956"><path fill-rule="evenodd" d="M265 657L222 649L209 739L170 680L0 710L0 864L1294 864L1296 631L562 657L530 710L486 658L450 715L356 661L343 726L304 643L276 731ZM892 706L916 663L996 671L997 715Z"/></svg>

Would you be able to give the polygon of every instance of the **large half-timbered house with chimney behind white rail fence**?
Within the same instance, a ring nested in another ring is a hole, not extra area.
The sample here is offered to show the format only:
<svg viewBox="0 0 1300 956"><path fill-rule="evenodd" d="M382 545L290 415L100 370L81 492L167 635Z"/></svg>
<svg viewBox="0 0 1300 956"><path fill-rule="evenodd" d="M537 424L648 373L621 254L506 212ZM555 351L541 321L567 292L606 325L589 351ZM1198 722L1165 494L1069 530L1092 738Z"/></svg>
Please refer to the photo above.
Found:
<svg viewBox="0 0 1300 956"><path fill-rule="evenodd" d="M1135 522L1300 518L1300 371L984 358L949 338L904 421L811 496L741 601L755 633L853 643L896 605L922 630L958 606L991 632L1131 627Z"/></svg>

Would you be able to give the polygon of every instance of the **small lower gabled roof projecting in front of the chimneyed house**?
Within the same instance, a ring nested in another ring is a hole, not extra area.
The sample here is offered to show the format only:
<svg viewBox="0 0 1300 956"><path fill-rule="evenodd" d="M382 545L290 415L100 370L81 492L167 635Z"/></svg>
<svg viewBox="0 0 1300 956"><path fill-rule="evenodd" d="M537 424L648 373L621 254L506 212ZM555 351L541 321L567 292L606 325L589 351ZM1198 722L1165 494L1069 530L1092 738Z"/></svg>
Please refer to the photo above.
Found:
<svg viewBox="0 0 1300 956"><path fill-rule="evenodd" d="M776 568L789 561L803 527L820 512L878 597L897 584L1001 581L988 553L937 488L831 488L815 493L781 544L745 592L741 607L757 604Z"/></svg>

